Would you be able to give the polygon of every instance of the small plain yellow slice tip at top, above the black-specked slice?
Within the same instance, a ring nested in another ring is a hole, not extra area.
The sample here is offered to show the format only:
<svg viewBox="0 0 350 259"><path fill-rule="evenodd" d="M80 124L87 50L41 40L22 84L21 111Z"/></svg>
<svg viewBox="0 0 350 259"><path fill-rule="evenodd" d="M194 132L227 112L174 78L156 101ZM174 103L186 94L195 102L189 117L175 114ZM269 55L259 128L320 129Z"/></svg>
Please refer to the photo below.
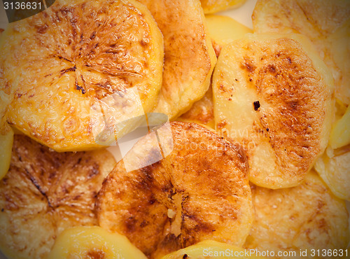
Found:
<svg viewBox="0 0 350 259"><path fill-rule="evenodd" d="M240 22L223 15L205 15L209 35L213 41L216 57L224 45L242 38L244 34L252 33L253 30L242 25Z"/></svg>

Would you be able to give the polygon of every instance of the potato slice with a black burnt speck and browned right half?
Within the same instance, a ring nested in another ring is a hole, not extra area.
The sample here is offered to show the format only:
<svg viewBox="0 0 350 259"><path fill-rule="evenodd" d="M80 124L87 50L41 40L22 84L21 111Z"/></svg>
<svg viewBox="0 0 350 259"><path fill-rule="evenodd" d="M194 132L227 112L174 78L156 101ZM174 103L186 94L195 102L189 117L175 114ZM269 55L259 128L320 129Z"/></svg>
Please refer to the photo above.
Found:
<svg viewBox="0 0 350 259"><path fill-rule="evenodd" d="M334 85L311 47L293 34L247 34L218 58L216 130L244 145L258 186L297 186L327 146Z"/></svg>

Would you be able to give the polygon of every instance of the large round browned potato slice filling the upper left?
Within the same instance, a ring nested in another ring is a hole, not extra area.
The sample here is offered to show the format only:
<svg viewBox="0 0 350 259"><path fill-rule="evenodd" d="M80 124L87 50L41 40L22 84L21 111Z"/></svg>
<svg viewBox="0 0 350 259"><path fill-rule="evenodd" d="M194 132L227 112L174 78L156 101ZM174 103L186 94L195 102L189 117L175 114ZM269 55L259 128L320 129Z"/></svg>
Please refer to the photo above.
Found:
<svg viewBox="0 0 350 259"><path fill-rule="evenodd" d="M90 109L132 88L153 110L162 60L162 35L140 3L55 1L1 39L0 90L15 91L8 123L55 151L96 148ZM113 112L127 113L123 101Z"/></svg>

